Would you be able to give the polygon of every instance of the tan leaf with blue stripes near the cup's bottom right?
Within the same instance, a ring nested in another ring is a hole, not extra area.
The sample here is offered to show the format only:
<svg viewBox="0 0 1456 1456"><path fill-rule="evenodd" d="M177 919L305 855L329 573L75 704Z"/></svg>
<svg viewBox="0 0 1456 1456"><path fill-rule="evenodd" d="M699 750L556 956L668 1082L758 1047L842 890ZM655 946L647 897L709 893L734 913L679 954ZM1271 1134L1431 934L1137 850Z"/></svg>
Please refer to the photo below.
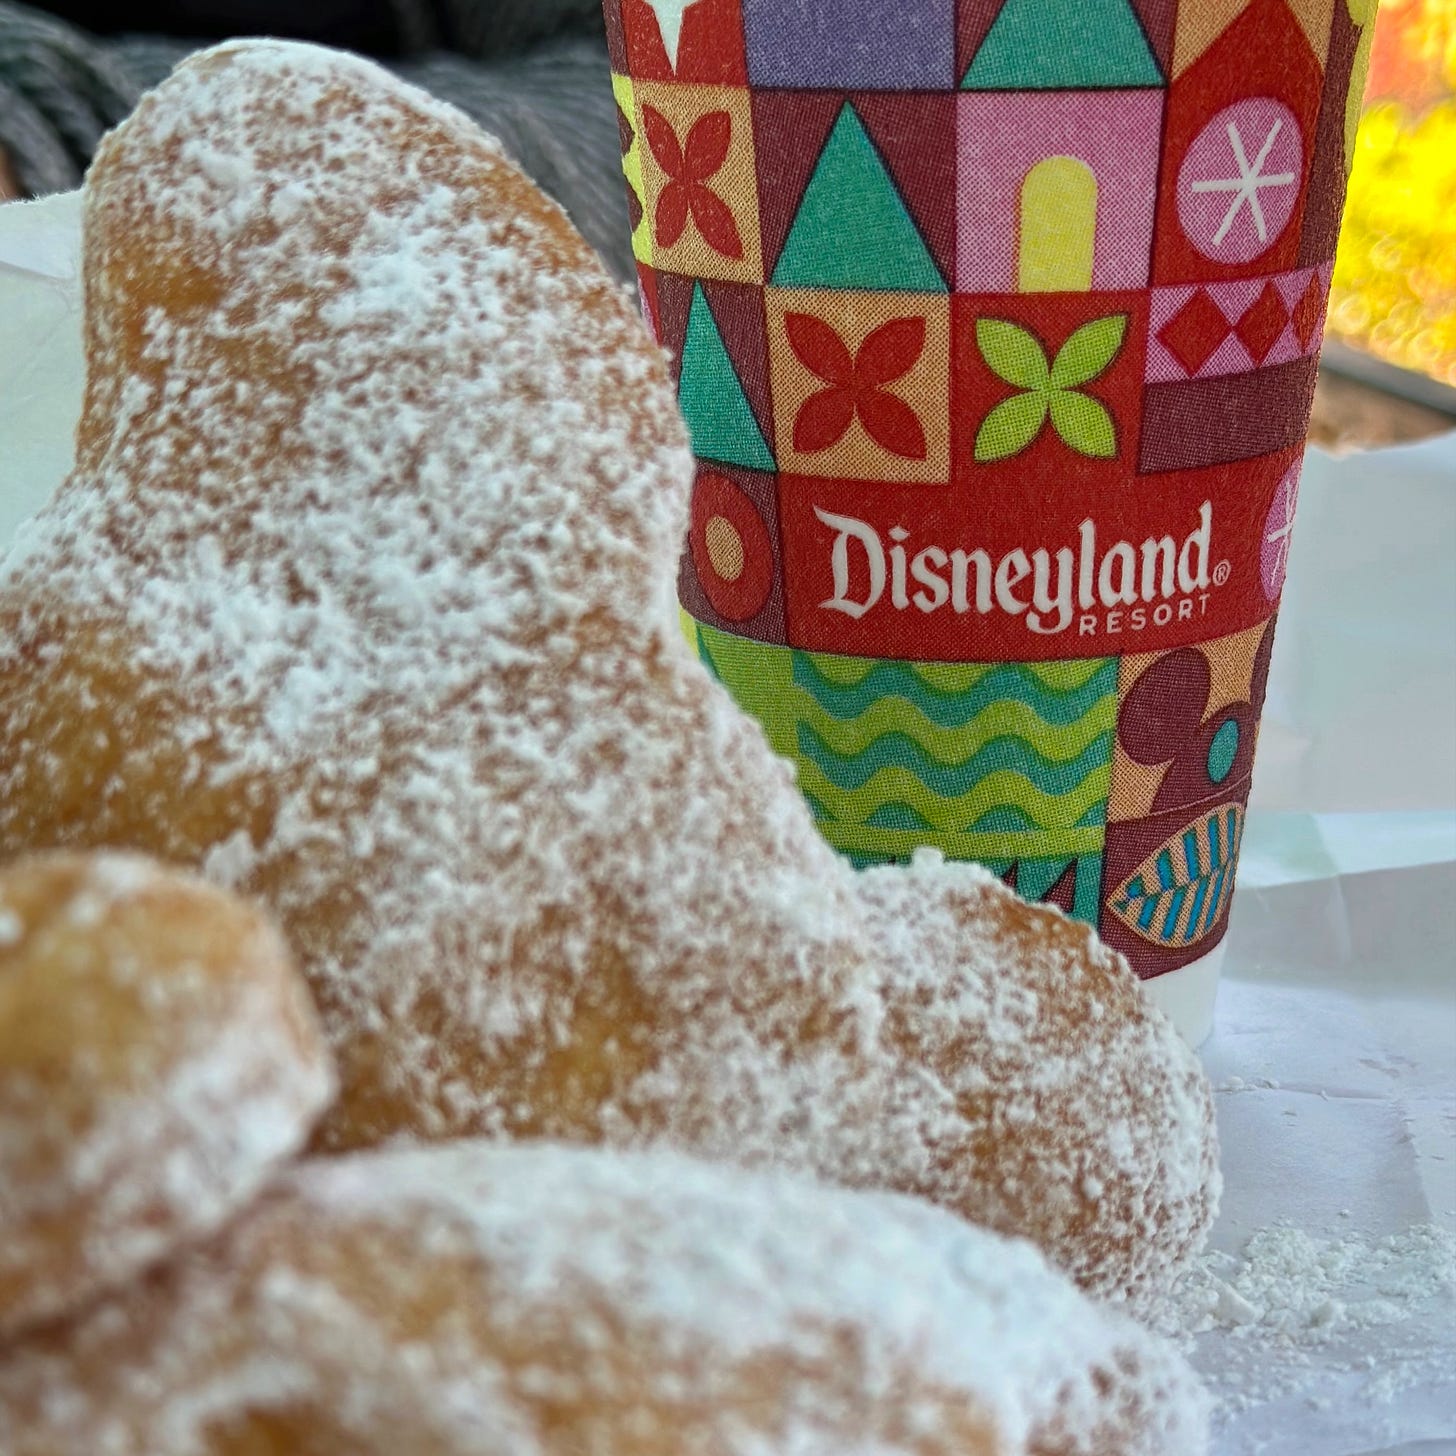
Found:
<svg viewBox="0 0 1456 1456"><path fill-rule="evenodd" d="M1108 900L1108 909L1153 945L1194 945L1217 926L1243 839L1243 810L1223 804L1155 850Z"/></svg>

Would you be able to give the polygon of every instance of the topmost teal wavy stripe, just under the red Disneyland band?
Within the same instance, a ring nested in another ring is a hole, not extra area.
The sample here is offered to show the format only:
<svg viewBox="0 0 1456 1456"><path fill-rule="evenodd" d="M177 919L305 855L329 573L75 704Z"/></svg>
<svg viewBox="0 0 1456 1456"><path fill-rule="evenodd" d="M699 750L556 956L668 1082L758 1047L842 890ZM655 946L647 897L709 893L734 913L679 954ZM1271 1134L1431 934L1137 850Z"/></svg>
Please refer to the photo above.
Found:
<svg viewBox="0 0 1456 1456"><path fill-rule="evenodd" d="M1067 727L1092 713L1104 699L1117 696L1117 661L1111 658L1093 662L1080 683L1066 689L1054 687L1041 673L1021 662L981 668L976 681L960 690L943 690L926 681L925 668L911 668L906 662L872 661L852 683L826 677L821 665L823 660L795 652L794 683L840 722L859 718L890 699L910 703L936 728L964 728L987 708L1009 702L1025 705L1041 722ZM1056 665L1080 670L1086 664Z"/></svg>

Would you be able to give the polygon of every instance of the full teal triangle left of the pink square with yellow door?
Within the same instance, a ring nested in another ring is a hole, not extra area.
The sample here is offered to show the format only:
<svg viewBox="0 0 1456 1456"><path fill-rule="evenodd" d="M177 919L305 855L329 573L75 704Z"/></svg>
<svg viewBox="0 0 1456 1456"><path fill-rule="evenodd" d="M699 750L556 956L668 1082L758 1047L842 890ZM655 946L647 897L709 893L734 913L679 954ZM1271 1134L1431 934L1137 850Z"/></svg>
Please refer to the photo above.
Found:
<svg viewBox="0 0 1456 1456"><path fill-rule="evenodd" d="M855 108L834 122L773 269L783 288L946 293Z"/></svg>

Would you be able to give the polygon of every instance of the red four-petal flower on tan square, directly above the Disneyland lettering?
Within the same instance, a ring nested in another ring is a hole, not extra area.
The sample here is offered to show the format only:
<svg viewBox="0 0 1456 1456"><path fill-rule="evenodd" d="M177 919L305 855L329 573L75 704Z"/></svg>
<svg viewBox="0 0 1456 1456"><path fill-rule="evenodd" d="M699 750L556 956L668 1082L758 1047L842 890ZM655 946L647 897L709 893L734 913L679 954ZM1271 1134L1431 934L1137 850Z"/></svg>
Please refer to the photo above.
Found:
<svg viewBox="0 0 1456 1456"><path fill-rule="evenodd" d="M906 460L923 460L925 431L916 412L885 387L904 379L925 352L925 319L891 319L850 357L844 341L811 313L786 313L789 347L828 384L804 400L794 448L814 454L839 444L856 415L875 444Z"/></svg>

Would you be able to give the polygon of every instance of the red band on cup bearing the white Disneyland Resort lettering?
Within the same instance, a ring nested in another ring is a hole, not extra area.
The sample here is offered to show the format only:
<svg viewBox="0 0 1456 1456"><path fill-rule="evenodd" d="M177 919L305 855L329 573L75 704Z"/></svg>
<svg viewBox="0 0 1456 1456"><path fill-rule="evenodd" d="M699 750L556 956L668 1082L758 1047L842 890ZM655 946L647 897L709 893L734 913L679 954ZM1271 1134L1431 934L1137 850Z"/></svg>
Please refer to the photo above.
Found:
<svg viewBox="0 0 1456 1456"><path fill-rule="evenodd" d="M1265 537L1297 459L1284 450L1115 489L1083 466L992 498L962 485L783 475L789 644L1029 662L1245 630L1270 612Z"/></svg>

